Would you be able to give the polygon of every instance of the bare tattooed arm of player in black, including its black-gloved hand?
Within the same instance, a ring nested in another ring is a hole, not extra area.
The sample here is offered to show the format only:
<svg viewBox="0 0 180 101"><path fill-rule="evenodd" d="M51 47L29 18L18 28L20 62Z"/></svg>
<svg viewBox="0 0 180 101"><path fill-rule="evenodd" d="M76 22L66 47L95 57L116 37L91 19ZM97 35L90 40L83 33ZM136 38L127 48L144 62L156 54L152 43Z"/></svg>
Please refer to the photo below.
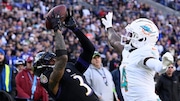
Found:
<svg viewBox="0 0 180 101"><path fill-rule="evenodd" d="M59 30L61 29L61 21L59 16L56 16L53 12L53 16L51 18L47 17L47 19L50 21L55 34L56 61L55 67L52 73L50 74L48 84L49 90L52 91L52 93L55 95L58 91L59 82L64 74L68 57L64 37L61 31Z"/></svg>

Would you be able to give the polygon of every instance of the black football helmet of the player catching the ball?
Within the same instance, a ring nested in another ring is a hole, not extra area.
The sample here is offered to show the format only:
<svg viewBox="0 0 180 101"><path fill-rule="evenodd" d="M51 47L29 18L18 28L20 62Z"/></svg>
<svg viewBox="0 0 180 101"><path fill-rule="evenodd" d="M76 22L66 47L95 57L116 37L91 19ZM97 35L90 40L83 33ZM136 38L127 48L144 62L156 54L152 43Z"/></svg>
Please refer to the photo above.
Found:
<svg viewBox="0 0 180 101"><path fill-rule="evenodd" d="M55 65L55 57L56 54L52 52L39 52L35 56L33 64L34 74L39 77L44 71L53 69Z"/></svg>

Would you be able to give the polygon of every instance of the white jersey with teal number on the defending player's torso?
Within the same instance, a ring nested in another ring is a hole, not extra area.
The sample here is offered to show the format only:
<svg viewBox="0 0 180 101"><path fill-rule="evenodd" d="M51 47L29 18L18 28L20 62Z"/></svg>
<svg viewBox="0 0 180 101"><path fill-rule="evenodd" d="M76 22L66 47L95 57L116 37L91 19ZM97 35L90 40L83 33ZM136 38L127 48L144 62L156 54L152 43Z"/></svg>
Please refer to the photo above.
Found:
<svg viewBox="0 0 180 101"><path fill-rule="evenodd" d="M158 50L145 46L132 51L123 50L120 66L121 91L125 101L158 101L155 94L155 71L143 64L144 59L158 59Z"/></svg>

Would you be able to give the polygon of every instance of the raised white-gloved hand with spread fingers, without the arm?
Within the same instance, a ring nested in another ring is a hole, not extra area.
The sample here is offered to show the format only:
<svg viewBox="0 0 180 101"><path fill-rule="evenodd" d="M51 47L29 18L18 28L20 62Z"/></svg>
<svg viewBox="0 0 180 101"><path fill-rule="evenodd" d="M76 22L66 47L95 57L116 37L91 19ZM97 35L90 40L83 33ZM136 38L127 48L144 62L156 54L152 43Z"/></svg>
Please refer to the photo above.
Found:
<svg viewBox="0 0 180 101"><path fill-rule="evenodd" d="M102 23L105 26L105 30L107 31L108 28L112 27L112 16L113 13L112 12L108 12L108 14L106 15L106 19L102 18Z"/></svg>

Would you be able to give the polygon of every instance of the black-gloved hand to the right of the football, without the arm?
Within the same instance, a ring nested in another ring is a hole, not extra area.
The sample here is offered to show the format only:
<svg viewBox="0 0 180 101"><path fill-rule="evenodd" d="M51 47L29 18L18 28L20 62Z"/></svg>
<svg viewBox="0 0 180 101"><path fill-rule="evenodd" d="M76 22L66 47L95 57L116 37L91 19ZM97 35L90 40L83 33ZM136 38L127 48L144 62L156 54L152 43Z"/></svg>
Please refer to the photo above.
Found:
<svg viewBox="0 0 180 101"><path fill-rule="evenodd" d="M76 21L72 16L72 11L70 11L69 9L68 9L68 16L64 22L64 26L71 29L71 30L73 30L77 26Z"/></svg>

